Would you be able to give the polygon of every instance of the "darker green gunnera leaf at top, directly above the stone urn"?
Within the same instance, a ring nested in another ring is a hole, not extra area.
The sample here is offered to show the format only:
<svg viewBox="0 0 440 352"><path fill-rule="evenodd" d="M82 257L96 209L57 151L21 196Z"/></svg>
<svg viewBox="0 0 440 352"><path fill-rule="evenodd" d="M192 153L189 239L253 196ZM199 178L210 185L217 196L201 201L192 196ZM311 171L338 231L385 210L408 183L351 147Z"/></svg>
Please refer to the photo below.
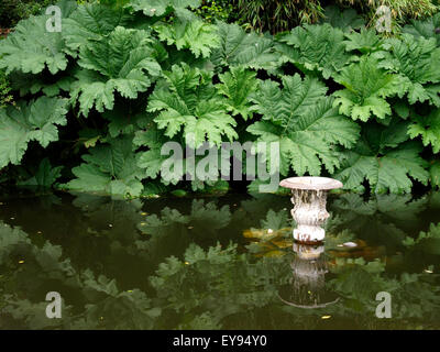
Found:
<svg viewBox="0 0 440 352"><path fill-rule="evenodd" d="M324 78L333 76L350 62L344 33L329 24L297 26L279 36L277 46L283 59L302 70L318 70Z"/></svg>

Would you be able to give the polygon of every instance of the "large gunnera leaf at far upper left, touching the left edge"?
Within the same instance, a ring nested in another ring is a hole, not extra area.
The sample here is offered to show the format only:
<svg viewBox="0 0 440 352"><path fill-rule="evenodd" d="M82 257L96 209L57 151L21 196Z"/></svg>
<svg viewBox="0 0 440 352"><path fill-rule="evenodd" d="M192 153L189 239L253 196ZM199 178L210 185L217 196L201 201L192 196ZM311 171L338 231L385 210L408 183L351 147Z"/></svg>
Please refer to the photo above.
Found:
<svg viewBox="0 0 440 352"><path fill-rule="evenodd" d="M66 69L66 46L62 32L48 32L48 15L20 21L0 44L0 68L7 74L18 70L38 74L46 67L51 74Z"/></svg>

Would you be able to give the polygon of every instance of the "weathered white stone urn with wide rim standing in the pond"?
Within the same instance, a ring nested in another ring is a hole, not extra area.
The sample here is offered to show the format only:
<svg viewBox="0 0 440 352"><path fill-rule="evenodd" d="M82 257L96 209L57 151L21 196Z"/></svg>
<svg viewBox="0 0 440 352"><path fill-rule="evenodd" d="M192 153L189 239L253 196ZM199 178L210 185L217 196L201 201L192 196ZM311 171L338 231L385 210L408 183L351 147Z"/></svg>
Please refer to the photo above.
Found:
<svg viewBox="0 0 440 352"><path fill-rule="evenodd" d="M292 216L297 223L295 241L304 244L322 242L326 231L321 226L330 216L326 210L327 193L343 187L342 183L327 177L290 177L283 179L279 186L292 189Z"/></svg>

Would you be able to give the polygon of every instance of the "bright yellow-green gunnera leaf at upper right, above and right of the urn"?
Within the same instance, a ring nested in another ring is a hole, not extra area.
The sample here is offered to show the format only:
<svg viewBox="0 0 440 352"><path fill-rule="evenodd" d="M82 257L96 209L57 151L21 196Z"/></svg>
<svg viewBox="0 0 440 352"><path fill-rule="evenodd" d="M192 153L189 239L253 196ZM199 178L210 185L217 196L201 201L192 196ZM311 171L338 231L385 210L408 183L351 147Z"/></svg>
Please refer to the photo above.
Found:
<svg viewBox="0 0 440 352"><path fill-rule="evenodd" d="M333 94L340 113L361 121L374 117L385 119L392 113L385 98L402 92L400 79L377 66L374 57L363 56L359 63L344 67L334 76L334 80L345 87Z"/></svg>

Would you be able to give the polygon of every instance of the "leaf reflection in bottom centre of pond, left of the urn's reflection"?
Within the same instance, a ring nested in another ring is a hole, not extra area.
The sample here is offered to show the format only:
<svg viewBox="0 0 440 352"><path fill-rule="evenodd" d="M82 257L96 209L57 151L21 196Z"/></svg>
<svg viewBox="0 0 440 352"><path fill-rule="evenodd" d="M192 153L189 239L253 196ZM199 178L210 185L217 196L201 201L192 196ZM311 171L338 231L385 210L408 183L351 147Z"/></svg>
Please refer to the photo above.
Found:
<svg viewBox="0 0 440 352"><path fill-rule="evenodd" d="M199 319L198 311L207 311L210 322L219 326L227 317L276 300L279 273L289 275L285 264L276 258L250 263L235 244L218 244L207 251L191 244L183 261L168 257L161 264L151 283L168 309L191 317L189 320Z"/></svg>

